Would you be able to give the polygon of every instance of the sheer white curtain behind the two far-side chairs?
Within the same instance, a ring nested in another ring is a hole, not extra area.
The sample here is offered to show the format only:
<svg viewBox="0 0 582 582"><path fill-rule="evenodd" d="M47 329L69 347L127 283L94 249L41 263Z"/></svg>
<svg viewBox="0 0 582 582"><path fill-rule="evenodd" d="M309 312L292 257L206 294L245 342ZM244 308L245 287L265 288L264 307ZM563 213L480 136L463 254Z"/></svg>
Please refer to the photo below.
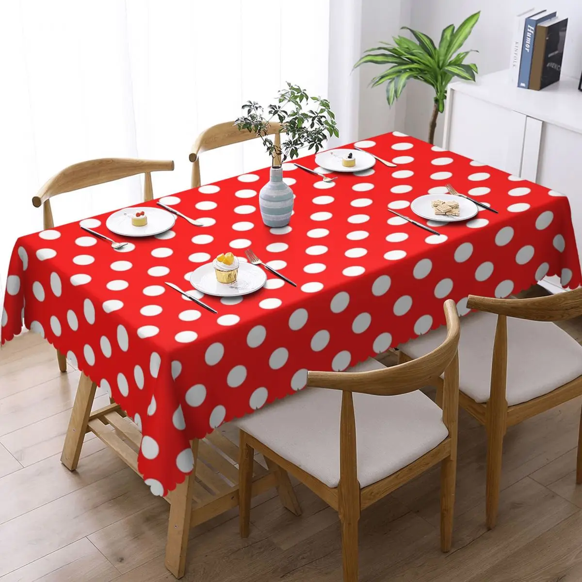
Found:
<svg viewBox="0 0 582 582"><path fill-rule="evenodd" d="M329 4L2 0L0 286L16 238L42 228L31 198L62 168L100 157L173 159L173 172L153 176L154 196L186 190L190 145L205 127L236 118L246 100L271 102L285 81L327 96ZM267 164L254 140L208 152L202 180ZM55 223L140 196L137 177L62 194Z"/></svg>

